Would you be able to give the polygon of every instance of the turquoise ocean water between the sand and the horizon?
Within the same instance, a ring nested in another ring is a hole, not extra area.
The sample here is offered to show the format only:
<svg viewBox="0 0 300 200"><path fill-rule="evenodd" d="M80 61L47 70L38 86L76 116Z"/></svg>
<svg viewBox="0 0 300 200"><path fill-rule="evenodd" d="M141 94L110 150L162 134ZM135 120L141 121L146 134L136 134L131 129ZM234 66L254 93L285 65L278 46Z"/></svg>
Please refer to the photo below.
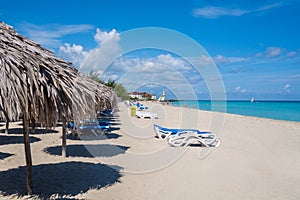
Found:
<svg viewBox="0 0 300 200"><path fill-rule="evenodd" d="M300 101L185 100L172 104L200 110L300 122Z"/></svg>

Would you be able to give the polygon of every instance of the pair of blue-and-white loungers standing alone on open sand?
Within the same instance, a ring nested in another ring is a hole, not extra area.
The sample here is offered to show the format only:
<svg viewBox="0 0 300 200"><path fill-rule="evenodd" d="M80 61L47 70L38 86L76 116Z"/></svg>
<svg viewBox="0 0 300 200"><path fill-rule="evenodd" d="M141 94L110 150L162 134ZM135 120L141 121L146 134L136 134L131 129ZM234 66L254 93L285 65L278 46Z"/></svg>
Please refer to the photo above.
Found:
<svg viewBox="0 0 300 200"><path fill-rule="evenodd" d="M197 129L170 129L153 125L158 138L167 140L172 146L187 146L191 143L201 143L206 147L219 146L220 140L212 132L203 132Z"/></svg>

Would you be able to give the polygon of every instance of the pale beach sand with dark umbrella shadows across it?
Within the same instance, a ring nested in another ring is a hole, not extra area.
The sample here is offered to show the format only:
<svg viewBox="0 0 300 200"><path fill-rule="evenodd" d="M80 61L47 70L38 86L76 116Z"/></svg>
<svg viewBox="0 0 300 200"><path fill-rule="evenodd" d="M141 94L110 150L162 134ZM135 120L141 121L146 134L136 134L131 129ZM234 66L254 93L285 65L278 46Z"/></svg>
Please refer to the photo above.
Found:
<svg viewBox="0 0 300 200"><path fill-rule="evenodd" d="M300 123L145 105L158 119L131 117L130 108L120 103L115 130L68 139L67 158L60 156L61 127L31 134L37 197L300 199ZM213 131L221 144L170 147L154 137L154 123ZM10 134L3 132L0 199L28 198L20 122L10 124Z"/></svg>

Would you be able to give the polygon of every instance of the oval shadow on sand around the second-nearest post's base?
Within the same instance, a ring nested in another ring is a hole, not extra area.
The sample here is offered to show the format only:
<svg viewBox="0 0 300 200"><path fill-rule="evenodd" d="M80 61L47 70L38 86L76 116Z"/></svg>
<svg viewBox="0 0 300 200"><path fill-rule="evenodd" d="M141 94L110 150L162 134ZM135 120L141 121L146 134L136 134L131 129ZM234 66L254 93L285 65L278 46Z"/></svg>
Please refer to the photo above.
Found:
<svg viewBox="0 0 300 200"><path fill-rule="evenodd" d="M70 157L113 157L124 154L129 147L111 144L68 145L67 156ZM61 146L47 147L43 150L50 155L61 155Z"/></svg>

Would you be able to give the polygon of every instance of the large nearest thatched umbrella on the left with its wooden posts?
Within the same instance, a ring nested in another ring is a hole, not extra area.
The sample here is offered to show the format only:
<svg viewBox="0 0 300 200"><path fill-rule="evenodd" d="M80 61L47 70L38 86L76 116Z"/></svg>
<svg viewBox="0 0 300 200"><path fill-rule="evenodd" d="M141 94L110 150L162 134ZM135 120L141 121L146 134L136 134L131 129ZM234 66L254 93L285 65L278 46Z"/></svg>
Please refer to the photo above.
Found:
<svg viewBox="0 0 300 200"><path fill-rule="evenodd" d="M7 121L23 119L28 194L32 190L29 122L39 121L49 128L62 119L65 150L65 122L95 111L89 105L97 105L97 90L88 88L78 77L84 76L70 63L0 22L0 117ZM110 97L111 93L105 94Z"/></svg>

